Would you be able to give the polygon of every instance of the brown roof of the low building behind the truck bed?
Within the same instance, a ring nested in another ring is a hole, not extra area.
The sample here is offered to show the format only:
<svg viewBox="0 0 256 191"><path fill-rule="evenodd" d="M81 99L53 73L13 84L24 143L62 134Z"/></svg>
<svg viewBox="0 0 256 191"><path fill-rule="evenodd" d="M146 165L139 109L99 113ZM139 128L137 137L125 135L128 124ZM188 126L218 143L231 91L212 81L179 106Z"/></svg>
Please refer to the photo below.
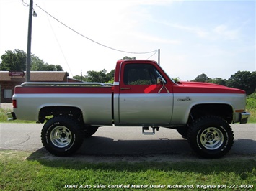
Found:
<svg viewBox="0 0 256 191"><path fill-rule="evenodd" d="M63 82L69 76L68 73L63 71L31 71L30 81L33 82ZM25 80L25 75L22 76L9 76L8 71L0 71L0 81L13 81Z"/></svg>

